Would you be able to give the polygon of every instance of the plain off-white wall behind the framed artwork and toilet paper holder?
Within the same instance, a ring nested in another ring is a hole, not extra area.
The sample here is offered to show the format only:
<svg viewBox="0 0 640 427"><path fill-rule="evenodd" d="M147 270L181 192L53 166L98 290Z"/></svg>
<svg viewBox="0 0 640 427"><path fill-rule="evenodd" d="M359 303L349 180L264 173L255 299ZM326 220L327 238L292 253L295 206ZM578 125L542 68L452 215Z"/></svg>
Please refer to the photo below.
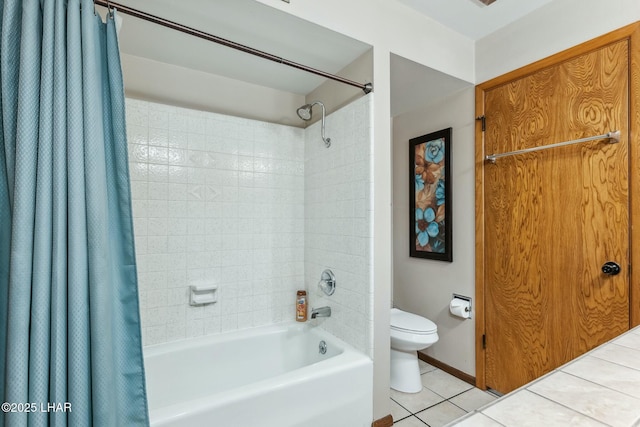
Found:
<svg viewBox="0 0 640 427"><path fill-rule="evenodd" d="M393 120L393 304L435 322L440 339L426 353L469 375L475 375L475 321L453 317L449 301L452 293L475 296L473 100L474 88L470 87ZM411 258L409 140L448 127L453 128L453 262Z"/></svg>

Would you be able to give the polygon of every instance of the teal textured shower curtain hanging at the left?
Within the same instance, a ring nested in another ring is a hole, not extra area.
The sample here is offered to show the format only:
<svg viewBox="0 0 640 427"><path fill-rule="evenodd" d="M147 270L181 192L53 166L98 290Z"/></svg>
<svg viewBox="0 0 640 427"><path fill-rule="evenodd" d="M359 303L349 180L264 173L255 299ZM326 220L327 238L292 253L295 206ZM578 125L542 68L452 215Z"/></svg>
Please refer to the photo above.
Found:
<svg viewBox="0 0 640 427"><path fill-rule="evenodd" d="M148 425L113 17L0 9L0 427Z"/></svg>

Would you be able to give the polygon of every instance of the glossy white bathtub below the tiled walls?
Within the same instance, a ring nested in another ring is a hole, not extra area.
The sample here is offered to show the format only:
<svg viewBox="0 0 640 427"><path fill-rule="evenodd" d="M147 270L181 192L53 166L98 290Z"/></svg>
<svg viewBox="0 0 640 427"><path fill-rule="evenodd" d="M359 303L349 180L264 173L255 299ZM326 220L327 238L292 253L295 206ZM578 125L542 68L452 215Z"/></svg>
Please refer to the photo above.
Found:
<svg viewBox="0 0 640 427"><path fill-rule="evenodd" d="M154 427L371 426L371 359L309 324L160 344L144 353Z"/></svg>

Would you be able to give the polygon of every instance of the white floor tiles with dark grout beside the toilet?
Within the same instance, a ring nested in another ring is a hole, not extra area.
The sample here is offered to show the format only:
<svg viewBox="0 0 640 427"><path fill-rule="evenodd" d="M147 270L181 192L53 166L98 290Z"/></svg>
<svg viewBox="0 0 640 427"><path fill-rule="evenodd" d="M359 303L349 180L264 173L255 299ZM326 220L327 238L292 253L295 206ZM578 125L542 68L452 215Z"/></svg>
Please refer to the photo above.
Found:
<svg viewBox="0 0 640 427"><path fill-rule="evenodd" d="M495 396L420 360L422 391L391 389L391 415L398 427L442 427L493 402Z"/></svg>

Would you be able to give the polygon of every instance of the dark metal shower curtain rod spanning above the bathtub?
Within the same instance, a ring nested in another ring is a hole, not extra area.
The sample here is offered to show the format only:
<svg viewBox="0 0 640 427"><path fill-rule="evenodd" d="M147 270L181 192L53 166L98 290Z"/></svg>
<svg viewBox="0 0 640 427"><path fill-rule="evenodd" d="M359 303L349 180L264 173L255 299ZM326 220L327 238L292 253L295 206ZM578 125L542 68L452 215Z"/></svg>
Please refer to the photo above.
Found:
<svg viewBox="0 0 640 427"><path fill-rule="evenodd" d="M141 10L134 9L134 8L131 8L129 6L125 6L125 5L120 4L120 3L116 3L116 2L112 2L112 1L105 1L105 0L94 0L93 3L97 4L98 6L106 7L109 10L116 9L116 10L118 10L118 12L124 13L126 15L131 15L131 16L134 16L136 18L144 19L145 21L149 21L149 22L152 22L154 24L162 25L163 27L167 27L167 28L170 28L172 30L180 31L182 33L190 34L192 36L199 37L201 39L205 39L205 40L208 40L210 42L221 44L223 46L227 46L227 47L230 47L232 49L239 50L241 52L249 53L251 55L255 55L255 56L258 56L258 57L263 58L263 59L268 59L270 61L277 62L277 63L283 64L283 65L288 65L289 67L297 68L299 70L306 71L306 72L311 73L311 74L322 76L322 77L325 77L325 78L328 78L328 79L331 79L331 80L335 80L337 82L344 83L344 84L347 84L347 85L350 85L350 86L355 86L355 87L357 87L359 89L362 89L365 94L368 94L369 92L371 92L373 90L373 84L372 83L362 84L362 83L355 82L353 80L345 79L344 77L336 76L335 74L327 73L325 71L318 70L316 68L308 67L306 65L303 65L303 64L300 64L300 63L297 63L297 62L289 61L289 60L284 59L284 58L282 58L280 56L272 55L272 54L264 52L262 50L254 49L252 47L249 47L249 46L246 46L246 45L243 45L243 44L240 44L240 43L236 43L234 41L231 41L231 40L228 40L228 39L224 39L222 37L214 36L213 34L205 33L204 31L200 31L200 30L197 30L195 28L187 27L186 25L182 25L182 24L179 24L177 22L169 21L167 19L160 18L160 17L155 16L155 15L151 15L151 14L149 14L147 12L143 12Z"/></svg>

